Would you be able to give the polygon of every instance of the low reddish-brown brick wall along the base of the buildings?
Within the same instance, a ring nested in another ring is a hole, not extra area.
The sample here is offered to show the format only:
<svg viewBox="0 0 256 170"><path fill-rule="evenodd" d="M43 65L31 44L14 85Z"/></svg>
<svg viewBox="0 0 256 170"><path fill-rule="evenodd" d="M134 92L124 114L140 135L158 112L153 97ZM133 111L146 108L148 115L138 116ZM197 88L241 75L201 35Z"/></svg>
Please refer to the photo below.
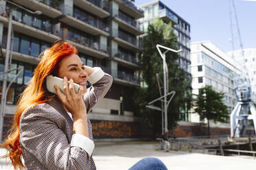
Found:
<svg viewBox="0 0 256 170"><path fill-rule="evenodd" d="M3 138L6 138L8 130L12 125L12 114L6 114L3 125ZM125 121L100 121L91 120L94 138L151 138L153 130L141 122ZM171 134L177 137L186 136L207 136L208 129L206 125L178 125ZM211 136L229 135L228 127L211 127ZM247 130L246 134L254 134L253 130ZM161 135L158 135L159 137Z"/></svg>

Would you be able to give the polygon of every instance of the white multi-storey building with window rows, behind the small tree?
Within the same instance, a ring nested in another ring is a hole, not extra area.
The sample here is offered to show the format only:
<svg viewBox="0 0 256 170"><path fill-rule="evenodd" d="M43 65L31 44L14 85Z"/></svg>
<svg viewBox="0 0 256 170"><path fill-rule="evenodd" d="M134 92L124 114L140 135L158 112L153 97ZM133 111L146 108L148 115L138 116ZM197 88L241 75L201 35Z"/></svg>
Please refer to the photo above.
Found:
<svg viewBox="0 0 256 170"><path fill-rule="evenodd" d="M235 62L228 54L209 41L191 43L192 93L198 95L199 89L212 86L224 93L224 104L232 111L236 104L233 74L239 73ZM191 114L192 122L199 122L198 114Z"/></svg>

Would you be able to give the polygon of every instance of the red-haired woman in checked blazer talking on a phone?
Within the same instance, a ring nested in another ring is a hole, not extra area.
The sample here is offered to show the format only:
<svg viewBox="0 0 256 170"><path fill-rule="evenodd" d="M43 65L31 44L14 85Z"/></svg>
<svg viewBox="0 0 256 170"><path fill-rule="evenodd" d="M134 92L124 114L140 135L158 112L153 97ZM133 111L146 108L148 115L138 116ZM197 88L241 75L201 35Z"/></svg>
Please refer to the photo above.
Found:
<svg viewBox="0 0 256 170"><path fill-rule="evenodd" d="M48 75L63 78L64 93L59 86L55 86L56 95L47 91ZM92 84L88 89L87 80ZM78 93L74 83L80 85ZM96 169L87 112L105 96L111 83L111 75L99 67L85 66L69 43L59 41L47 49L21 94L12 132L3 143L14 169Z"/></svg>

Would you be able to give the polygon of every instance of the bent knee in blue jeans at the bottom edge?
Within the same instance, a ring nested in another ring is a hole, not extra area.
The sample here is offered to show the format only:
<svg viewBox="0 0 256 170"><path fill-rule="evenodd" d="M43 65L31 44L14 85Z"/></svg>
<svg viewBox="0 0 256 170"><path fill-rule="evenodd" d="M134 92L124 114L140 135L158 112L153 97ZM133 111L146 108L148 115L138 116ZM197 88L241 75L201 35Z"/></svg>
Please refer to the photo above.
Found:
<svg viewBox="0 0 256 170"><path fill-rule="evenodd" d="M168 170L158 158L143 158L128 170Z"/></svg>

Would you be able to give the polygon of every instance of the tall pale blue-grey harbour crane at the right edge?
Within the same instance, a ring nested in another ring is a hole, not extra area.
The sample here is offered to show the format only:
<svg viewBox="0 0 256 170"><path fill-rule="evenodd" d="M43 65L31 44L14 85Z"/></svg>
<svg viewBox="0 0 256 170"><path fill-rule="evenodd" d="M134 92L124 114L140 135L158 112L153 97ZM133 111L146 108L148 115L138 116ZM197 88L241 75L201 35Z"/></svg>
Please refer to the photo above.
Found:
<svg viewBox="0 0 256 170"><path fill-rule="evenodd" d="M245 0L244 0L245 1ZM256 0L246 0L256 1ZM231 112L231 137L242 137L246 133L249 125L249 120L253 120L255 134L256 134L256 109L251 101L251 86L248 78L248 71L244 60L244 47L242 44L242 36L240 34L237 12L235 9L234 0L229 0L230 20L231 20L231 42L233 47L232 58L237 62L234 51L240 50L241 53L239 64L242 64L242 73L235 75L235 95L237 97L237 104ZM248 114L250 110L251 114Z"/></svg>

